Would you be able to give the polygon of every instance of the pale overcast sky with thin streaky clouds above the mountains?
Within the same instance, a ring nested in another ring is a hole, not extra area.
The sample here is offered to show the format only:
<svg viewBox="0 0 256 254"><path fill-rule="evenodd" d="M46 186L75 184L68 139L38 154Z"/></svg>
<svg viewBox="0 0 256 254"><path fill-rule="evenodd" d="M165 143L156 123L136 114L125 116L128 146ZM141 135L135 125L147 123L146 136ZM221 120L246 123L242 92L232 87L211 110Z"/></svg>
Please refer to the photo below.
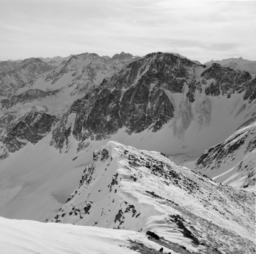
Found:
<svg viewBox="0 0 256 254"><path fill-rule="evenodd" d="M255 1L1 0L0 60L161 51L256 60Z"/></svg>

